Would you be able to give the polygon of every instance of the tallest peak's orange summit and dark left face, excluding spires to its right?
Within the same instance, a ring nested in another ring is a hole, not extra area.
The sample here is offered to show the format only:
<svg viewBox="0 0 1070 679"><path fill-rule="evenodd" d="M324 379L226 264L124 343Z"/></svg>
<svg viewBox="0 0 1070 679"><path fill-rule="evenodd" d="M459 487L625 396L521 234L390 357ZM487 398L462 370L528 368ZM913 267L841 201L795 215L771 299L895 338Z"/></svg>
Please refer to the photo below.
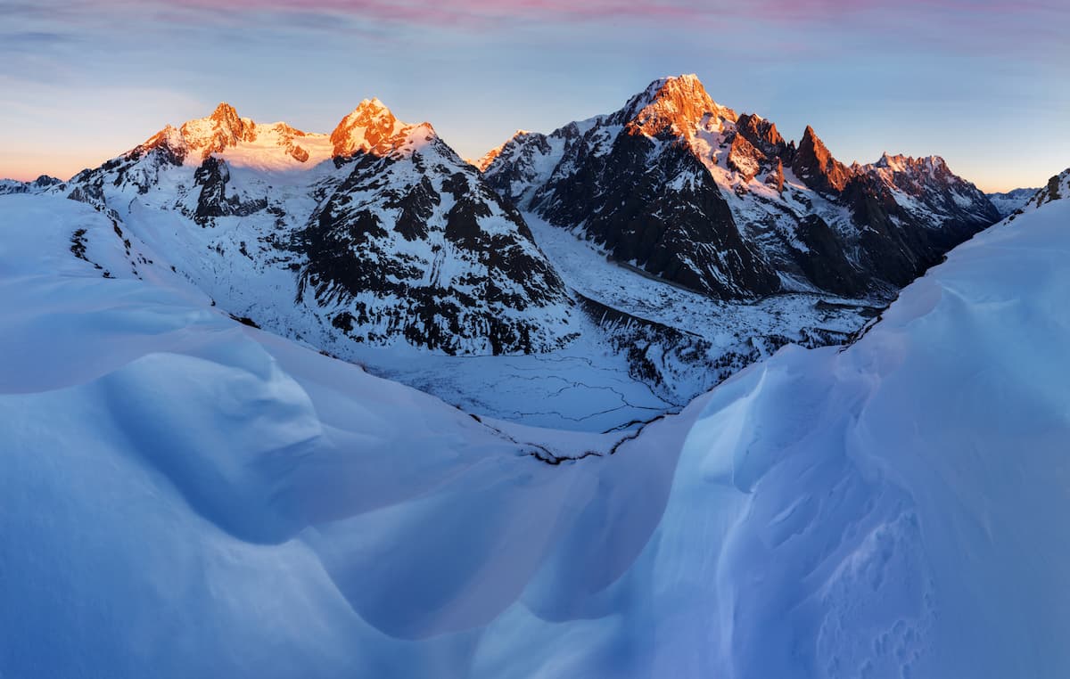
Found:
<svg viewBox="0 0 1070 679"><path fill-rule="evenodd" d="M724 120L735 113L697 78L659 80L610 115L515 137L486 176L553 223L582 223L616 260L725 299L765 295L780 289L776 274L681 143L697 125Z"/></svg>

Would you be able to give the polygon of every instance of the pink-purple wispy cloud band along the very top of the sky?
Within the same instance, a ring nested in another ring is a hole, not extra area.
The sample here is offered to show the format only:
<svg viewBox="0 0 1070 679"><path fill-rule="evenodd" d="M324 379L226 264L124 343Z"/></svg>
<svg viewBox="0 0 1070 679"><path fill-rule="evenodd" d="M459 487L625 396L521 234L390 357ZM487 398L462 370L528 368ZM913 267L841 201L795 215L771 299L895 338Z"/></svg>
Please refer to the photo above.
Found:
<svg viewBox="0 0 1070 679"><path fill-rule="evenodd" d="M778 29L773 40L799 31L840 32L845 40L897 36L931 49L979 53L989 40L1024 50L1063 40L1065 0L0 0L0 24L42 41L64 32L107 33L109 26L149 30L279 26L296 32L369 37L388 31L433 30L471 38L509 29L630 24L683 35L729 29ZM136 32L136 31L135 31ZM277 31L276 31L277 32ZM0 29L0 35L3 30ZM664 33L660 33L664 35ZM235 37L232 35L231 37Z"/></svg>

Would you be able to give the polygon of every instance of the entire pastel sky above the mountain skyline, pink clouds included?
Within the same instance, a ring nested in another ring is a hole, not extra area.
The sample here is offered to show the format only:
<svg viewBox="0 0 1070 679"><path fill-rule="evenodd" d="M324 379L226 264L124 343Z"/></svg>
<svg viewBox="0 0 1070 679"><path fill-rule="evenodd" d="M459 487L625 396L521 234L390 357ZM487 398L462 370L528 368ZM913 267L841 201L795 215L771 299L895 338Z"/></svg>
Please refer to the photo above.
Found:
<svg viewBox="0 0 1070 679"><path fill-rule="evenodd" d="M1070 166L1067 0L0 0L0 176L68 178L220 101L330 132L378 96L477 157L654 78L851 163L987 190Z"/></svg>

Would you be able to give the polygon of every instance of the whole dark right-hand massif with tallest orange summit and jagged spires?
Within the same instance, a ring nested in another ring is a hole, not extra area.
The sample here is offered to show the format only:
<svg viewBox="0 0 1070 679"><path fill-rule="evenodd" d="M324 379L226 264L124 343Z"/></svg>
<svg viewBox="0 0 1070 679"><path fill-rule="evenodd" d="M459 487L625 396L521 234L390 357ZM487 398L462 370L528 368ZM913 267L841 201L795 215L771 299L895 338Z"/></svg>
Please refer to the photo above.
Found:
<svg viewBox="0 0 1070 679"><path fill-rule="evenodd" d="M811 127L662 78L613 113L518 134L484 175L522 210L608 253L722 299L780 291L889 296L999 218L939 158L846 166Z"/></svg>

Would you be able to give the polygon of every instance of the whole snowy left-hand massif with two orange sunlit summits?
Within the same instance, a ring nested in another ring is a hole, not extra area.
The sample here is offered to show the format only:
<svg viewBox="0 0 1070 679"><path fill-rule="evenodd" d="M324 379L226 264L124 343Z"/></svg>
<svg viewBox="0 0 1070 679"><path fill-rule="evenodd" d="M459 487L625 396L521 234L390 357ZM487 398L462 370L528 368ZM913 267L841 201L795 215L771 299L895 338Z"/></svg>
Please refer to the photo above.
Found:
<svg viewBox="0 0 1070 679"><path fill-rule="evenodd" d="M354 342L541 352L576 334L516 209L429 124L378 99L330 135L220 104L56 190L177 253L227 311L341 355Z"/></svg>

